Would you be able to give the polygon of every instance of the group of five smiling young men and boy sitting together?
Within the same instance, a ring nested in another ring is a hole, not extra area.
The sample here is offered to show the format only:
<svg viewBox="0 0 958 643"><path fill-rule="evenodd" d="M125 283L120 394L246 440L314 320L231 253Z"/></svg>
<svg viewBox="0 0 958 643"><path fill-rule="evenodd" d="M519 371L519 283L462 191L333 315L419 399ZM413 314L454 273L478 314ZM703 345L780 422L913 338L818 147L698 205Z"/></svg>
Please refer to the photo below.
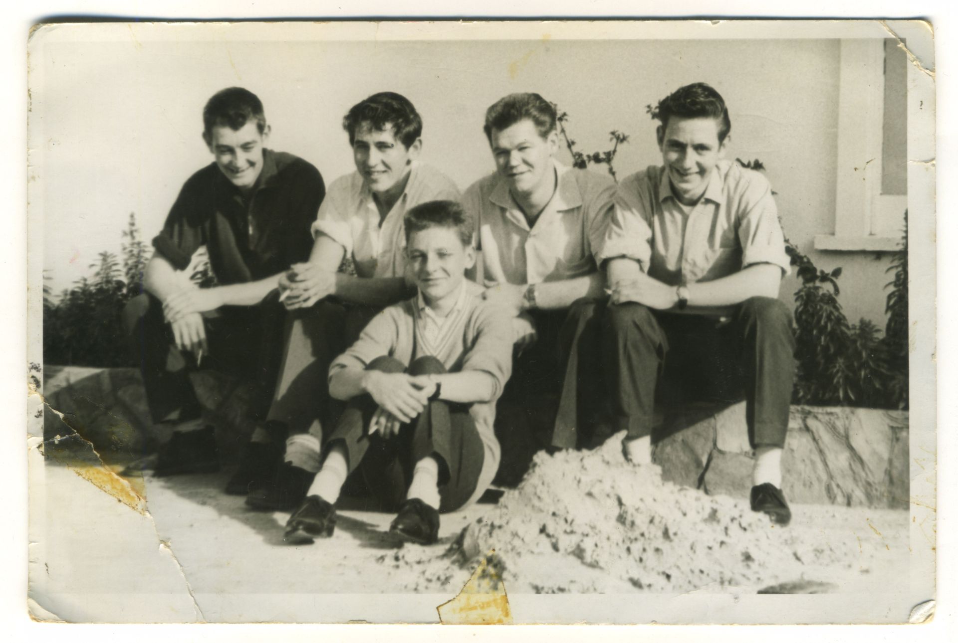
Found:
<svg viewBox="0 0 958 643"><path fill-rule="evenodd" d="M242 372L259 383L257 428L227 493L291 511L286 542L309 542L331 535L359 470L393 532L435 543L440 513L492 482L497 434L527 430L497 405L555 400L552 447L594 444L604 423L648 464L661 385L695 397L734 365L751 505L787 524L793 344L772 192L723 159L731 123L709 85L654 116L662 165L617 186L559 163L550 102L507 96L484 125L495 171L460 194L418 160L413 104L383 92L344 118L355 171L327 189L265 147L255 95L218 92L203 112L215 162L184 185L126 311L152 419L173 426L155 475L218 469L189 374ZM220 285L184 278L200 246Z"/></svg>

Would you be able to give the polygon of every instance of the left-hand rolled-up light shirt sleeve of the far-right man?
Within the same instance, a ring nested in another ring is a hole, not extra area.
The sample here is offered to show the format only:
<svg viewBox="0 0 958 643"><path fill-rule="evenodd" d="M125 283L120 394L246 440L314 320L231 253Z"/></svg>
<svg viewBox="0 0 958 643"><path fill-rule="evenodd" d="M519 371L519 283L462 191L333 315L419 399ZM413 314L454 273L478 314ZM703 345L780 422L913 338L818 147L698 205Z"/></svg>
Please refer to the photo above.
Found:
<svg viewBox="0 0 958 643"><path fill-rule="evenodd" d="M633 174L622 182L615 193L615 205L608 217L604 240L596 262L625 257L638 261L643 272L649 271L652 254L651 213L640 191L642 174Z"/></svg>

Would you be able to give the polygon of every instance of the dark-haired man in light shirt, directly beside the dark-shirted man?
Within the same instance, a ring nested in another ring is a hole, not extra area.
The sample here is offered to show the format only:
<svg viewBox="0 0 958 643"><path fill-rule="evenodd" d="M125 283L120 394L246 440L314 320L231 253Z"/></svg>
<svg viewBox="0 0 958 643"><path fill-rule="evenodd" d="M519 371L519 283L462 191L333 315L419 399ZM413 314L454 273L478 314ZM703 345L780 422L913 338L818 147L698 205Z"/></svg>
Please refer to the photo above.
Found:
<svg viewBox="0 0 958 643"><path fill-rule="evenodd" d="M422 118L405 97L381 92L362 100L343 128L356 169L332 182L308 262L280 280L286 308L300 312L287 333L268 421L228 487L239 494L256 488L247 496L256 509L302 501L319 467L323 429L340 410L326 388L332 358L384 306L414 292L404 275L403 215L427 201L459 198L445 174L418 162Z"/></svg>

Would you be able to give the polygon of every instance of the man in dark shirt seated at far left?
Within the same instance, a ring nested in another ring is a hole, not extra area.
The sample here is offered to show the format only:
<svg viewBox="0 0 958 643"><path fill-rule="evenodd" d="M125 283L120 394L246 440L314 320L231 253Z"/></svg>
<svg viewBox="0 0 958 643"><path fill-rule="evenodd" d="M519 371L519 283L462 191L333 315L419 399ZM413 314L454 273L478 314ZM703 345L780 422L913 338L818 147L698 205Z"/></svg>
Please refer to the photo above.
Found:
<svg viewBox="0 0 958 643"><path fill-rule="evenodd" d="M261 385L252 414L269 408L285 311L280 277L309 255L309 227L323 201L319 171L264 144L269 125L248 90L218 92L203 110L203 141L214 163L186 182L125 322L143 370L154 422L173 425L157 476L219 468L213 427L204 425L189 374L197 366L246 373ZM219 286L196 288L184 273L206 246Z"/></svg>

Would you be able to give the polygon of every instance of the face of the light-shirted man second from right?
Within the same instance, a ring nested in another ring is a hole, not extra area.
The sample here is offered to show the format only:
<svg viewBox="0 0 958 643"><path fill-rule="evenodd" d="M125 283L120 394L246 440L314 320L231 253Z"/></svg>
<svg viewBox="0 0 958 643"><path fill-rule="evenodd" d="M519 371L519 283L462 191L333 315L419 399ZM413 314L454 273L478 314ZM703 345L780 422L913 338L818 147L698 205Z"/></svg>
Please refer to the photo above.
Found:
<svg viewBox="0 0 958 643"><path fill-rule="evenodd" d="M536 123L523 119L505 129L493 129L490 144L496 170L509 182L513 193L533 194L552 180L552 157L559 148L555 131L543 139Z"/></svg>

